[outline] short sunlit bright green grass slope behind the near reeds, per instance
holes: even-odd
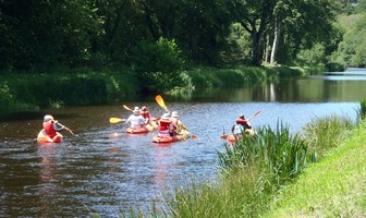
[[[276,195],[266,217],[365,217],[366,123]]]

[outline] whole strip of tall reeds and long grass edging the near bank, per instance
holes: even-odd
[[[325,154],[339,146],[353,128],[350,120],[340,117],[312,121],[295,135],[291,135],[289,126],[282,123],[277,129],[259,128],[256,136],[243,136],[233,147],[218,152],[222,172],[218,180],[176,189],[173,197],[166,201],[168,210],[151,213],[151,216],[268,215],[281,190],[296,181],[314,161],[320,161]]]

